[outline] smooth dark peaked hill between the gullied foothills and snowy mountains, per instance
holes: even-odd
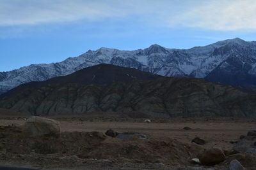
[[[44,85],[65,83],[79,83],[82,85],[97,83],[100,85],[106,85],[114,81],[128,81],[132,79],[154,80],[161,77],[162,76],[157,74],[140,71],[138,69],[120,67],[112,64],[99,64],[97,66],[86,67],[76,71],[75,73],[68,74],[67,76],[59,76],[46,81],[31,81],[29,83],[24,83],[12,90],[9,90],[8,92],[5,92],[4,94],[1,94],[0,98],[10,94],[15,94],[24,89],[42,87]]]

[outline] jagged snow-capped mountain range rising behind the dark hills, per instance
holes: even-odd
[[[0,73],[0,93],[29,81],[63,76],[97,64],[132,67],[162,76],[188,76],[256,87],[256,41],[227,39],[187,50],[151,45],[144,50],[89,50],[62,62],[32,64]]]

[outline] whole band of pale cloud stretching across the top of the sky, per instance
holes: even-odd
[[[0,26],[140,20],[157,27],[255,30],[255,0],[1,0]]]

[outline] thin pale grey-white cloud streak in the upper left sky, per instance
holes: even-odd
[[[0,2],[0,25],[35,25],[81,19],[96,20],[118,13],[118,9],[103,2],[81,0],[2,0]]]

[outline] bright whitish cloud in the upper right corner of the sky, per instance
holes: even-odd
[[[170,18],[171,27],[181,25],[217,31],[255,30],[256,1],[205,1],[188,11]]]

